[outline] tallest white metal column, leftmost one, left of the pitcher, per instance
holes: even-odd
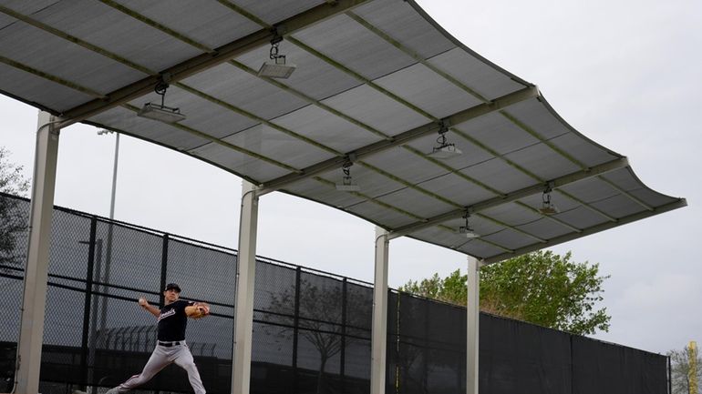
[[[29,213],[29,248],[22,300],[22,326],[17,344],[14,392],[19,394],[39,392],[51,214],[54,207],[58,156],[58,129],[53,127],[53,120],[53,116],[48,113],[39,112]]]

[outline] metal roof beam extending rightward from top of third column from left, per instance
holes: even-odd
[[[576,171],[563,177],[557,177],[555,179],[552,179],[550,182],[547,182],[547,184],[551,185],[551,187],[555,189],[557,187],[563,187],[570,183],[577,182],[579,180],[583,180],[589,177],[596,177],[600,174],[604,174],[617,168],[626,167],[628,166],[628,164],[629,163],[628,160],[626,160],[626,157],[617,158],[599,166],[590,167],[582,171]],[[480,212],[481,210],[485,210],[490,207],[497,207],[502,204],[507,204],[512,201],[516,201],[523,197],[529,197],[538,193],[542,193],[544,187],[546,187],[546,185],[543,184],[533,185],[531,187],[524,187],[520,190],[507,193],[503,196],[498,196],[485,201],[481,201],[480,203],[473,204],[470,207],[454,209],[449,212],[437,215],[435,217],[430,217],[424,221],[418,221],[416,223],[411,223],[406,226],[397,227],[392,232],[390,232],[390,237],[403,237],[422,228],[432,227],[441,222],[445,222],[447,220],[454,219],[457,217],[462,217],[463,215],[465,215],[466,210],[470,210],[471,213]]]

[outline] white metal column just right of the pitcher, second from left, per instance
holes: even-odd
[[[251,384],[253,338],[253,285],[256,278],[257,187],[243,181],[239,223],[239,255],[236,265],[232,394],[248,394]]]

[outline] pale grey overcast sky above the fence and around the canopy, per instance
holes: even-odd
[[[656,191],[688,207],[552,248],[600,263],[609,333],[595,338],[655,352],[702,340],[699,0],[422,0],[450,34],[540,87],[583,135],[629,158]],[[0,146],[33,167],[36,113],[0,96]],[[114,135],[62,131],[55,202],[108,216]],[[241,179],[122,136],[115,217],[236,248]],[[373,280],[374,226],[330,207],[262,197],[258,254]],[[390,243],[389,284],[445,276],[466,259],[407,238]]]

